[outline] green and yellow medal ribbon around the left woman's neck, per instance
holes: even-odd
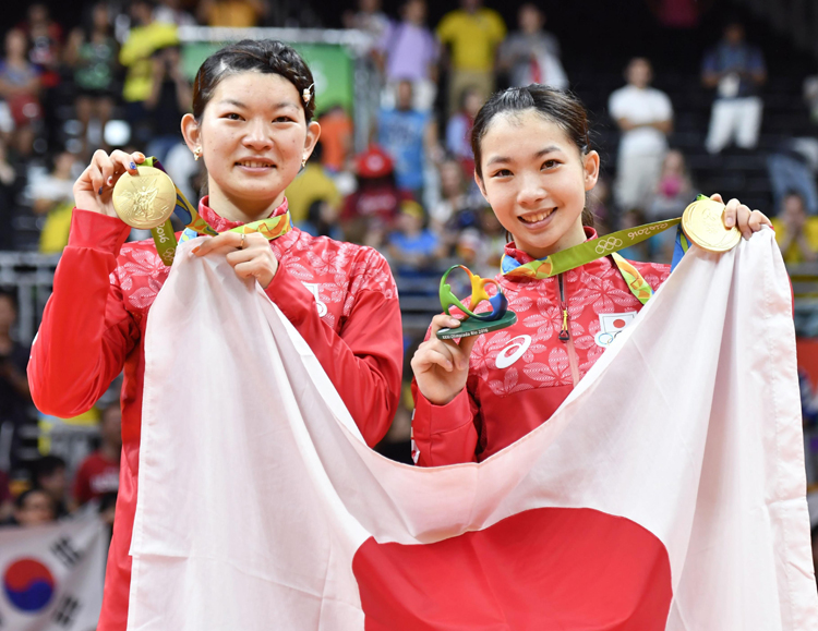
[[[145,161],[140,166],[155,167],[160,171],[165,171],[161,162],[159,162],[159,160],[154,157],[145,158]],[[194,206],[190,202],[188,202],[188,198],[184,196],[184,193],[179,190],[179,186],[176,186],[176,208],[173,208],[173,215],[176,215],[182,221],[182,223],[184,223],[184,231],[182,232],[180,238],[180,241],[182,243],[184,243],[185,241],[190,241],[191,239],[195,239],[196,236],[200,236],[202,234],[207,234],[210,236],[216,236],[218,234],[218,232],[214,230],[207,223],[207,221],[204,220],[196,208],[194,208]],[[285,213],[284,215],[279,215],[278,217],[268,217],[266,219],[253,221],[252,223],[237,226],[236,228],[227,230],[227,232],[238,232],[240,234],[251,234],[253,232],[258,232],[263,234],[268,241],[273,241],[274,239],[278,239],[279,236],[281,236],[282,234],[287,234],[287,232],[289,232],[290,230],[292,230],[292,222],[290,221],[290,211],[288,210],[287,213]],[[151,230],[151,234],[153,234],[154,236],[154,243],[156,244],[156,252],[158,252],[159,258],[161,258],[165,265],[172,265],[173,256],[176,255],[176,248],[178,247],[179,243],[177,242],[176,234],[173,233],[173,227],[170,223],[170,219],[168,219],[161,226],[153,228]]]

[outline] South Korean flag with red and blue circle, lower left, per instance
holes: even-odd
[[[95,629],[108,542],[92,506],[55,524],[0,527],[0,630]]]

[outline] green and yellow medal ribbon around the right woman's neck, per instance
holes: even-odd
[[[646,304],[653,295],[653,288],[642,278],[639,270],[636,269],[630,263],[628,263],[622,255],[617,254],[619,250],[629,247],[637,243],[641,243],[646,239],[650,239],[654,234],[664,232],[669,228],[679,226],[682,218],[667,219],[665,221],[654,221],[653,223],[646,223],[643,226],[637,226],[636,228],[628,228],[626,230],[619,230],[605,234],[598,239],[591,239],[574,247],[568,247],[561,252],[555,252],[544,258],[538,258],[529,263],[520,263],[513,256],[507,254],[503,255],[500,262],[500,268],[503,276],[516,277],[525,276],[528,278],[551,278],[565,271],[569,271],[582,265],[587,265],[592,260],[597,260],[603,256],[612,255],[616,267],[619,269],[623,278],[628,284],[630,292],[641,302]],[[676,267],[676,264],[682,259],[684,253],[687,252],[689,242],[682,232],[681,226],[676,231],[676,247],[673,253],[673,265],[672,268]]]

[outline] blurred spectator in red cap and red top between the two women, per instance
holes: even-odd
[[[395,183],[392,159],[377,146],[358,156],[356,174],[358,190],[344,202],[341,228],[346,241],[377,244],[392,229],[400,203],[412,195]]]

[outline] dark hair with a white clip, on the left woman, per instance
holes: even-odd
[[[293,48],[274,39],[242,39],[205,59],[193,82],[193,116],[202,120],[216,86],[226,76],[240,72],[278,74],[296,86],[299,102],[309,123],[315,113],[315,85],[312,72]],[[304,90],[310,97],[304,102]]]

